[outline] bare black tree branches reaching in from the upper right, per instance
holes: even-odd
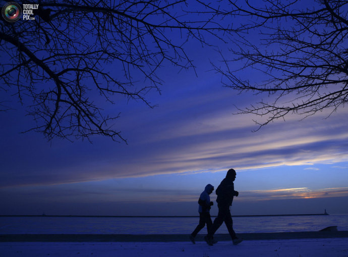
[[[214,68],[226,87],[271,99],[240,109],[265,117],[256,121],[260,127],[288,114],[332,113],[347,103],[348,1],[245,0],[230,2],[228,10],[208,8],[241,21],[233,58],[221,54],[224,65]],[[251,81],[253,70],[263,79]]]

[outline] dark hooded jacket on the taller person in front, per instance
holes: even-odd
[[[233,197],[238,195],[235,191],[235,185],[233,183],[233,178],[236,175],[235,170],[229,170],[226,177],[221,181],[220,185],[216,188],[216,202],[220,206],[230,206],[233,202]]]

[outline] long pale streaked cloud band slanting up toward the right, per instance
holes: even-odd
[[[31,163],[29,159],[25,164],[27,172],[20,172],[24,167],[15,162],[15,159],[11,166],[6,169],[3,167],[3,174],[17,175],[4,178],[1,186],[220,172],[229,167],[243,171],[284,165],[305,165],[308,166],[307,169],[315,169],[313,166],[317,164],[334,166],[335,163],[348,162],[348,145],[345,143],[348,141],[348,133],[344,115],[343,113],[333,118],[334,128],[327,128],[320,118],[314,118],[302,122],[271,124],[256,133],[250,132],[251,126],[235,129],[224,127],[217,132],[216,127],[220,124],[214,124],[216,127],[211,133],[206,131],[196,135],[177,135],[120,148],[119,145],[110,147],[108,143],[95,142],[93,146],[100,150],[93,155],[85,155],[89,146],[87,150],[81,150],[72,145],[69,151],[75,151],[77,157],[70,158],[69,151],[66,155],[60,153],[59,158],[65,160],[64,162],[52,159],[54,155],[45,158],[47,153],[42,151],[40,154],[43,161]],[[230,119],[239,123],[235,117],[240,116]],[[229,119],[228,115],[225,119]],[[197,130],[192,127],[192,131]],[[170,134],[166,130],[161,133]],[[155,135],[150,134],[149,138],[151,137]]]

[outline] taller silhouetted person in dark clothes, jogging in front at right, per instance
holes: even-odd
[[[239,192],[235,191],[235,186],[233,183],[236,179],[236,176],[236,171],[234,169],[229,169],[227,171],[226,177],[216,188],[216,202],[219,211],[211,229],[208,230],[208,234],[204,237],[204,240],[209,245],[213,245],[213,235],[223,222],[225,222],[233,244],[236,245],[243,241],[242,239],[237,237],[235,231],[233,230],[233,220],[231,218],[231,213],[229,210],[229,207],[232,205],[233,197],[239,195]]]

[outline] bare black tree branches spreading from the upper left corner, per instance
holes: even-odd
[[[18,2],[17,2],[18,3]],[[18,3],[21,4],[21,3]],[[34,21],[1,20],[0,90],[31,102],[30,130],[54,137],[87,138],[100,134],[126,141],[102,110],[99,96],[113,104],[117,95],[140,100],[160,92],[163,64],[194,69],[184,44],[204,35],[228,32],[186,1],[40,1]],[[196,13],[202,13],[197,19]]]

